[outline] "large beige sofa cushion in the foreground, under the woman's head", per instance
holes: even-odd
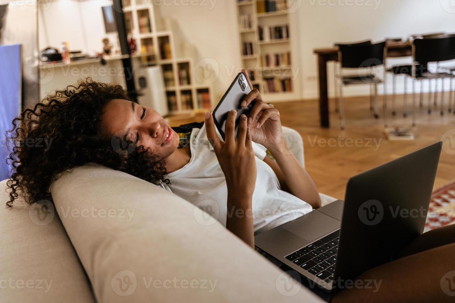
[[[187,201],[87,164],[51,185],[98,302],[319,299]]]

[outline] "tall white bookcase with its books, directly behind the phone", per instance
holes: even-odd
[[[234,0],[243,66],[270,102],[300,99],[297,17],[287,0]]]

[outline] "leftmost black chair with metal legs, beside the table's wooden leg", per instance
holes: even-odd
[[[344,104],[343,104],[343,87],[348,85],[369,84],[374,85],[374,112],[375,117],[378,118],[378,84],[383,83],[383,79],[372,73],[371,67],[382,66],[384,68],[384,55],[385,55],[385,42],[369,45],[339,45],[339,62],[340,73],[338,76],[338,83],[340,85],[340,102],[339,113],[341,129],[344,129]],[[368,69],[366,75],[343,75],[344,68],[356,68],[359,70]],[[385,71],[384,71],[385,73]],[[385,98],[385,95],[384,95]],[[384,99],[384,119],[387,124],[386,100]]]

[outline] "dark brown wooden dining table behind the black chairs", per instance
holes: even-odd
[[[412,42],[388,42],[386,43],[386,58],[406,57],[412,55]],[[321,127],[330,127],[329,122],[329,94],[327,84],[327,63],[338,61],[338,47],[317,48],[313,53],[318,58],[319,74],[319,122]]]

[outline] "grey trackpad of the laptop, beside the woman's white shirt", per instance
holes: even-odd
[[[325,236],[339,228],[341,222],[319,211],[313,211],[302,218],[283,225],[283,228],[309,242]]]

